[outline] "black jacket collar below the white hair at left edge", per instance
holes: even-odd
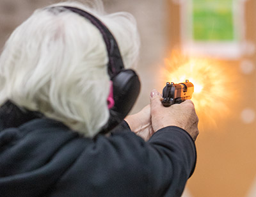
[[[8,100],[0,107],[0,131],[10,127],[19,127],[30,120],[42,117],[44,117],[42,113],[18,107]]]

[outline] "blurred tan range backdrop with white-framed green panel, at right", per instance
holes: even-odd
[[[209,91],[214,99],[211,106],[216,107],[200,109],[198,162],[183,196],[255,197],[256,1],[170,0],[167,3],[168,51],[178,48],[192,59],[195,56],[218,59],[211,60],[207,66],[209,73],[202,75],[207,84],[204,90]],[[200,67],[200,61],[194,67]],[[218,75],[211,77],[212,72]],[[220,79],[221,92],[211,92],[211,86]],[[196,102],[200,104],[200,97],[196,97]],[[222,107],[218,106],[220,102]],[[223,110],[223,107],[227,108]],[[214,123],[204,122],[209,119],[209,113],[217,114]]]

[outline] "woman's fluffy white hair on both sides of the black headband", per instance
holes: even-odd
[[[136,63],[140,40],[131,14],[107,15],[101,1],[53,4],[36,10],[6,42],[0,57],[0,105],[12,100],[93,137],[109,118],[106,45],[91,22],[53,6],[95,15],[115,36],[125,67]]]

